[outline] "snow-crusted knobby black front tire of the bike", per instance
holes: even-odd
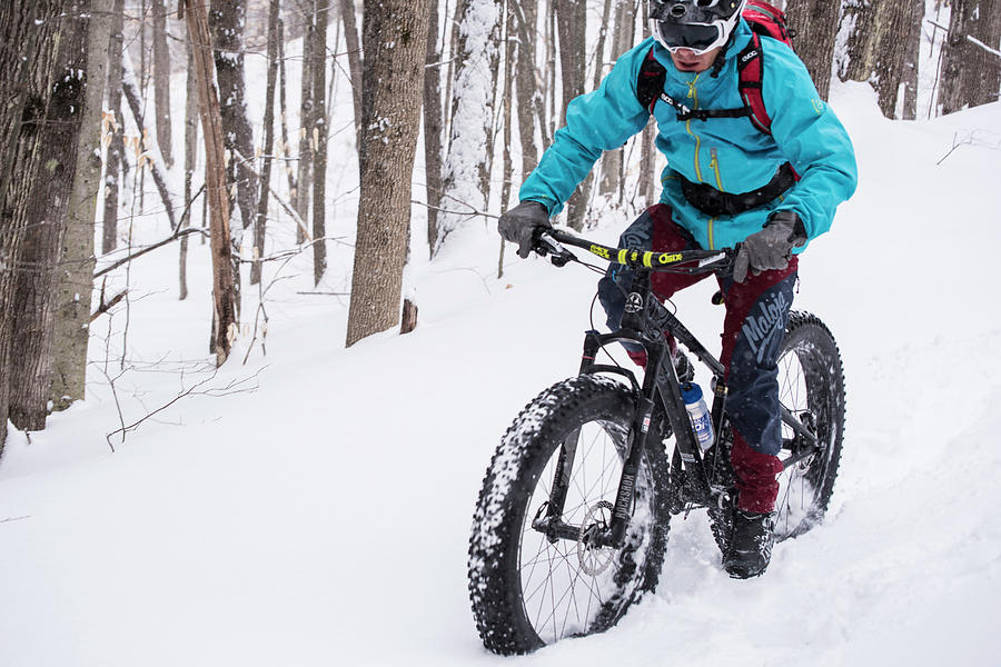
[[[618,434],[614,446],[620,448],[635,409],[636,394],[622,382],[582,375],[543,391],[508,428],[487,468],[469,539],[469,599],[487,649],[500,655],[525,654],[548,643],[529,620],[523,599],[522,539],[525,522],[533,518],[527,515],[536,511],[528,504],[536,486],[551,481],[541,479],[541,475],[569,434],[598,422],[605,432]],[[636,505],[643,502],[650,509],[644,515],[647,520],[641,526],[636,520],[631,524],[626,545],[614,555],[615,574],[603,580],[609,587],[607,599],[597,607],[594,621],[574,635],[608,629],[632,604],[656,587],[670,512],[667,461],[663,445],[655,449],[658,451],[644,450],[637,478],[645,481],[637,484]],[[606,499],[614,501],[615,486],[617,478],[612,497]],[[567,567],[573,565],[572,558],[565,560]]]

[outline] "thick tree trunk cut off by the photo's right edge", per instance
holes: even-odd
[[[952,0],[949,40],[942,61],[942,113],[998,101],[1001,57],[970,41],[998,50],[1001,0]]]

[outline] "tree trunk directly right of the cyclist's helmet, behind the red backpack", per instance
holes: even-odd
[[[789,0],[785,12],[789,24],[796,31],[793,44],[806,66],[822,99],[831,91],[831,69],[834,62],[834,38],[841,2]]]

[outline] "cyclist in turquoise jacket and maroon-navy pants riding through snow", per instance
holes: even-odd
[[[653,37],[624,53],[597,90],[567,106],[566,127],[523,183],[521,203],[498,223],[500,236],[518,243],[526,258],[535,230],[549,226],[602,151],[643,130],[651,113],[656,118],[656,146],[667,158],[661,200],[625,230],[620,246],[675,251],[741,245],[733,276],[721,279],[721,361],[739,491],[723,566],[736,578],[763,574],[771,559],[782,471],[776,358],[796,256],[831,227],[858,180],[844,127],[792,49],[752,33],[742,17],[745,2],[650,0]],[[752,108],[753,97],[742,97],[746,73],[742,79],[739,64],[754,57],[764,113]],[[641,96],[651,79],[656,90],[647,102]],[[668,299],[704,277],[658,272],[653,289]],[[612,265],[598,283],[613,329],[630,280],[630,271]],[[627,351],[645,365],[642,348]]]

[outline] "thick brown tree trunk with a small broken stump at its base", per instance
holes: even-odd
[[[347,345],[399,321],[427,54],[426,0],[366,0],[361,195]]]

